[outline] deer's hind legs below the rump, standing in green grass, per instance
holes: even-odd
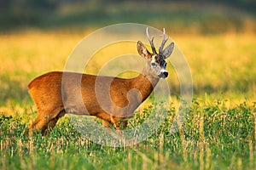
[[[43,135],[49,133],[49,131],[55,127],[59,118],[64,115],[65,110],[62,107],[45,111],[38,109],[38,116],[29,127],[30,134],[32,134],[32,131],[41,131]]]

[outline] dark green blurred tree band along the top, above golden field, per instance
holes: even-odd
[[[172,32],[255,31],[254,0],[0,0],[0,29],[84,30],[119,22]]]

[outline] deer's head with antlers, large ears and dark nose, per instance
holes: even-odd
[[[163,39],[162,43],[159,48],[159,53],[157,54],[155,47],[154,47],[154,37],[150,38],[148,34],[148,27],[146,30],[146,35],[148,37],[148,41],[150,43],[150,46],[152,48],[152,54],[148,51],[148,49],[144,46],[143,42],[138,41],[137,42],[137,51],[138,53],[144,58],[147,59],[147,66],[146,70],[149,71],[150,76],[152,77],[159,77],[159,78],[166,78],[168,77],[168,71],[166,71],[166,60],[173,51],[174,43],[171,42],[165,49],[164,46],[168,40],[168,37],[166,37],[166,30],[163,29]]]

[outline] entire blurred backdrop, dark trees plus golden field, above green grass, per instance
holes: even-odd
[[[0,0],[0,108],[32,105],[26,86],[34,77],[63,71],[82,38],[125,22],[166,27],[188,59],[195,97],[256,99],[255,8],[254,0]],[[121,47],[114,53],[127,45]],[[106,50],[105,59],[113,54]],[[168,69],[178,96],[179,81]]]

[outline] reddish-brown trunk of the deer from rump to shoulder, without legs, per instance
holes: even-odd
[[[131,81],[54,71],[32,80],[28,89],[38,109],[65,105],[65,110],[76,114],[96,115],[112,111],[113,105],[120,108],[128,105],[127,93],[131,89]]]

